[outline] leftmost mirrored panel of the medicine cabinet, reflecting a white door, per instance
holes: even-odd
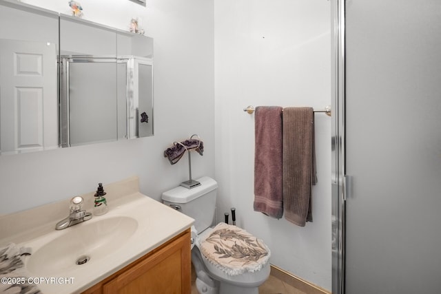
[[[0,152],[57,148],[58,14],[0,4]]]

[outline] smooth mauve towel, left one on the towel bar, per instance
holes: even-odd
[[[282,218],[282,107],[258,106],[254,114],[254,211]]]

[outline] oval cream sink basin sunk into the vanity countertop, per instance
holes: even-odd
[[[27,268],[34,275],[55,275],[102,258],[112,258],[138,227],[134,218],[114,216],[88,220],[63,231],[63,235],[41,246],[30,255]],[[77,264],[77,260],[84,262]]]

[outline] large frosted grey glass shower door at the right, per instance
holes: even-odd
[[[347,294],[441,291],[441,2],[423,2],[346,7]]]

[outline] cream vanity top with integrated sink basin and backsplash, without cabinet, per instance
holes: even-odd
[[[68,283],[40,282],[41,293],[83,293],[194,222],[189,216],[139,192],[136,177],[107,185],[106,191],[110,196],[107,198],[110,209],[105,215],[63,230],[56,230],[55,224],[65,216],[59,209],[69,207],[70,199],[4,218],[0,216],[1,224],[8,224],[0,225],[0,244],[14,243],[18,248],[32,249],[31,255],[23,256],[25,269],[19,269],[20,275],[23,271],[25,277],[72,278]],[[92,200],[93,195],[94,192],[82,197]],[[92,210],[92,204],[93,201],[85,204],[86,211]],[[88,255],[90,260],[76,264],[83,255]]]

